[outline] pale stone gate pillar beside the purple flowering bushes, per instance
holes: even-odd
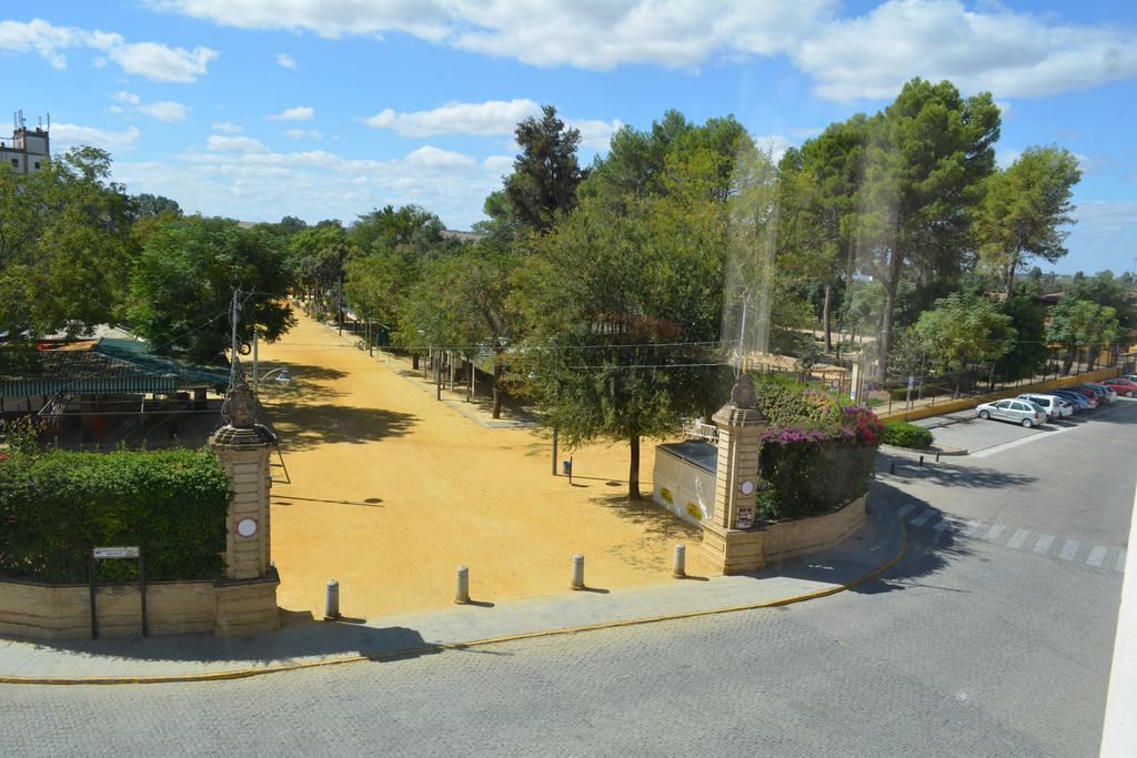
[[[754,380],[741,374],[731,399],[712,419],[719,427],[714,515],[703,522],[703,558],[716,573],[763,567],[761,531],[753,531],[758,489],[758,456],[766,417],[754,395]]]

